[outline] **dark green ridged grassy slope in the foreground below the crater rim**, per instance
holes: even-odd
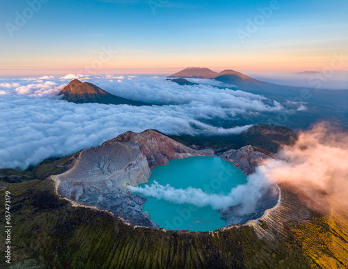
[[[285,236],[259,239],[253,227],[216,234],[123,224],[109,213],[59,199],[52,181],[11,184],[17,268],[345,268],[347,215],[285,222]],[[5,190],[0,190],[3,202]],[[3,211],[1,211],[3,219]],[[269,229],[264,223],[262,229]],[[3,249],[4,234],[0,234]],[[4,254],[1,252],[1,261]]]

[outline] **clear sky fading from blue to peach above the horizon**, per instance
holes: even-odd
[[[348,54],[347,0],[278,1],[243,40],[247,19],[272,1],[161,2],[48,0],[11,37],[8,25],[30,5],[1,0],[0,74],[79,70],[110,46],[117,53],[102,70],[320,70],[334,53]],[[155,14],[150,3],[161,5]]]

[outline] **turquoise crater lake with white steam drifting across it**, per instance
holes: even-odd
[[[138,186],[148,191],[137,189],[148,199],[143,212],[148,212],[159,227],[213,231],[226,226],[226,222],[212,204],[197,204],[204,204],[207,195],[214,204],[216,196],[226,196],[232,188],[246,182],[246,175],[228,161],[218,157],[191,157],[158,166],[152,170],[149,182]],[[161,193],[162,190],[166,195]]]

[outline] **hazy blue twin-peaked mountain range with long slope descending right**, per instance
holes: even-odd
[[[234,70],[224,70],[217,73],[200,67],[189,67],[169,77],[214,79],[223,83],[218,88],[242,90],[255,95],[262,95],[267,97],[267,99],[280,102],[285,108],[290,110],[294,108],[296,102],[306,106],[303,111],[296,111],[291,117],[285,115],[285,120],[279,120],[280,117],[268,115],[260,116],[259,118],[255,116],[255,122],[275,121],[279,124],[283,121],[292,128],[307,128],[313,122],[328,121],[340,122],[342,127],[348,128],[348,90],[278,85],[253,79]],[[268,100],[264,101],[267,102]],[[273,103],[270,102],[269,104]],[[253,124],[255,122],[241,120],[239,124]],[[213,122],[210,123],[214,124]],[[228,128],[228,126],[224,127]]]

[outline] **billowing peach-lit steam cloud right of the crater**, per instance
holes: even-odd
[[[290,186],[316,211],[328,212],[333,203],[348,210],[347,156],[348,133],[324,122],[300,133],[295,145],[265,161],[255,176]]]

